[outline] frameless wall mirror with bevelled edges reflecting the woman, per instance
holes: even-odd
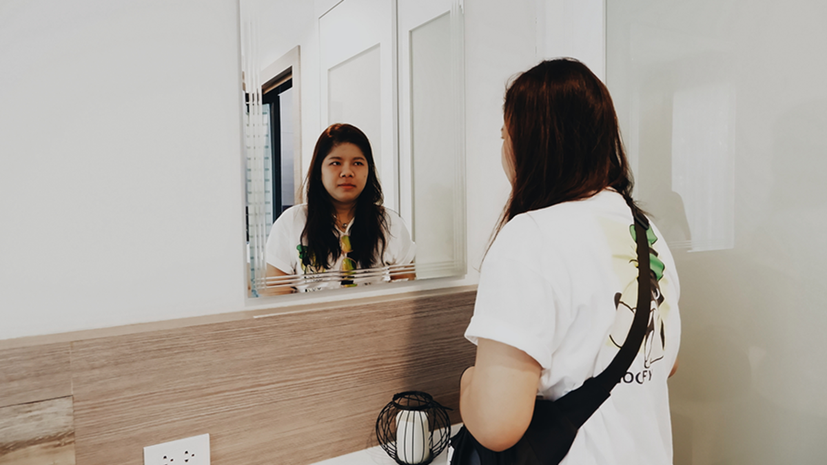
[[[464,275],[460,1],[241,0],[241,22],[249,295]],[[371,153],[334,137],[312,164],[334,123]]]

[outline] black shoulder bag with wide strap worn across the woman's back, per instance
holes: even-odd
[[[556,465],[566,457],[577,429],[609,398],[609,392],[632,366],[643,343],[651,311],[648,218],[632,208],[638,243],[638,307],[632,327],[609,367],[557,400],[538,399],[528,430],[513,447],[494,452],[483,447],[463,426],[451,439],[450,465]],[[641,311],[643,309],[643,311]]]

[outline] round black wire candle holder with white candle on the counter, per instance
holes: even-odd
[[[426,392],[395,394],[376,419],[376,439],[399,465],[428,465],[451,439],[448,410]]]

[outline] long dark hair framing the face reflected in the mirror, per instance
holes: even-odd
[[[376,164],[370,141],[364,132],[350,124],[333,124],[318,137],[313,149],[313,160],[304,184],[307,186],[308,220],[302,231],[302,242],[308,248],[302,256],[304,265],[328,269],[342,254],[336,233],[336,208],[322,184],[322,163],[334,147],[350,143],[365,156],[368,175],[365,189],[356,198],[356,212],[350,237],[353,252],[348,256],[359,268],[380,264],[385,254],[385,231],[388,228],[385,208],[382,206],[382,186],[376,176]]]

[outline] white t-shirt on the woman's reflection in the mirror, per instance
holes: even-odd
[[[336,276],[323,276],[319,275],[319,273],[341,271],[345,254],[340,254],[336,263],[327,269],[317,269],[313,266],[305,266],[302,263],[302,231],[304,231],[304,223],[307,223],[307,218],[307,204],[294,205],[284,210],[284,213],[281,213],[280,217],[273,223],[273,228],[270,229],[270,237],[267,237],[267,263],[285,273],[304,276],[295,286],[299,290],[311,291],[339,287],[342,285],[341,277],[336,279]],[[385,219],[388,224],[388,231],[385,232],[385,241],[387,243],[380,267],[407,265],[413,262],[416,246],[411,240],[410,233],[403,219],[390,209],[385,209]],[[350,233],[351,226],[355,221],[358,221],[358,218],[353,218],[351,222],[347,224],[347,229],[344,232],[337,229],[340,237],[342,234]],[[390,274],[385,270],[385,272],[375,273],[370,277],[358,277],[352,281],[353,284],[361,285],[389,279]]]

